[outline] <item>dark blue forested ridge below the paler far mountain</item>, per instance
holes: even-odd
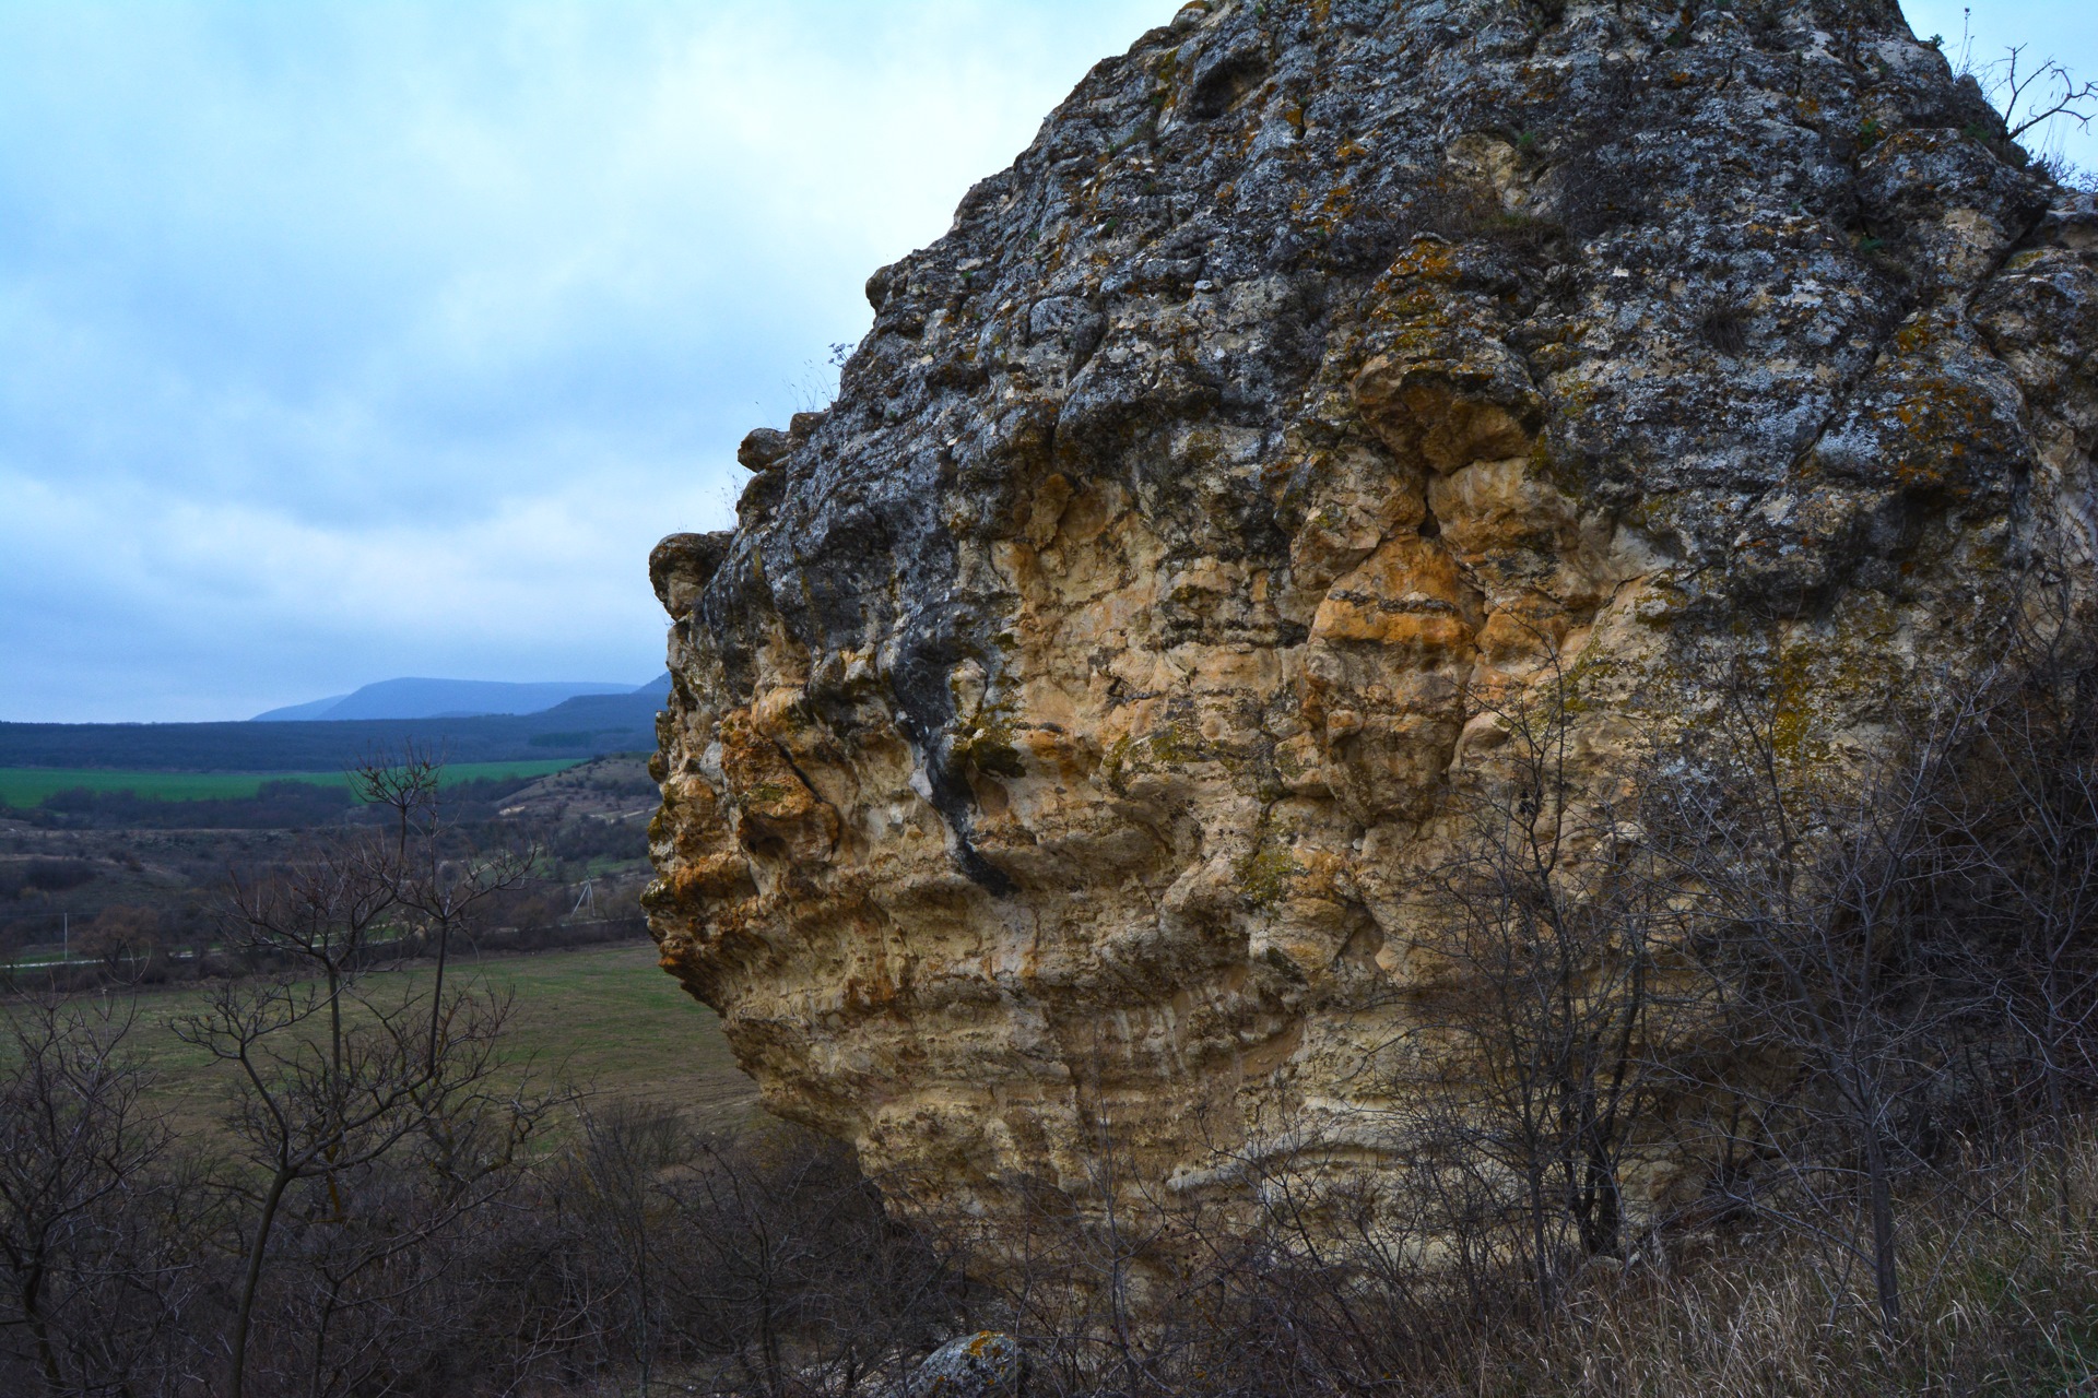
[[[124,771],[329,771],[418,742],[453,763],[514,763],[655,748],[669,675],[529,715],[273,719],[269,723],[0,723],[0,767]]]

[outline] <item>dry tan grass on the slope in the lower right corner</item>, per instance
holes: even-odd
[[[1448,1394],[1850,1398],[2098,1394],[2098,1140],[1962,1172],[1911,1205],[1909,1325],[1804,1239],[1737,1239],[1676,1268],[1594,1276],[1542,1329],[1483,1337]]]

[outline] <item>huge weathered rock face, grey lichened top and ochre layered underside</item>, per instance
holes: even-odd
[[[1725,641],[1840,742],[2090,572],[2098,214],[2001,132],[1882,0],[1187,6],[657,551],[665,966],[959,1207],[1374,1105],[1496,704],[1607,782]]]

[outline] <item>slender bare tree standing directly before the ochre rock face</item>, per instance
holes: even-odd
[[[1557,660],[1460,796],[1452,853],[1414,880],[1422,983],[1380,1052],[1399,1155],[1450,1205],[1458,1251],[1513,1260],[1540,1310],[1569,1268],[1618,1258],[1624,1174],[1672,1031],[1657,993],[1666,908],[1636,809],[1569,771]]]

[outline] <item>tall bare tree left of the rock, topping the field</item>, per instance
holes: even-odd
[[[269,975],[218,987],[201,1012],[174,1025],[185,1042],[237,1071],[231,1126],[254,1172],[235,1186],[248,1222],[227,1337],[231,1398],[245,1392],[281,1222],[325,1218],[342,1239],[355,1239],[321,1249],[317,1262],[323,1299],[304,1388],[336,1392],[355,1373],[355,1364],[327,1358],[331,1323],[350,1306],[352,1283],[485,1201],[485,1186],[504,1178],[545,1111],[541,1100],[491,1094],[508,1002],[443,983],[451,937],[493,891],[522,876],[529,855],[447,857],[457,843],[441,820],[441,773],[415,752],[399,767],[367,763],[352,780],[392,809],[392,828],[342,832],[271,878],[237,887],[233,939]],[[434,985],[369,979],[382,954],[430,943]],[[491,1126],[493,1107],[501,1111]],[[468,1165],[472,1149],[462,1153],[462,1132],[480,1149],[491,1130],[497,1149]],[[352,1228],[355,1184],[415,1146],[449,1180],[436,1203],[424,1199],[430,1207],[415,1222]]]

